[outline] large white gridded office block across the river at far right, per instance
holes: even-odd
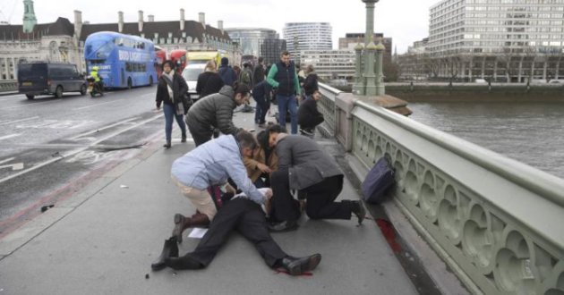
[[[430,9],[430,76],[564,77],[564,0],[443,0]]]

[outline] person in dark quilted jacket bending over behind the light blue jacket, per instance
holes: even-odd
[[[188,111],[186,123],[196,147],[211,139],[213,131],[236,134],[240,128],[233,124],[233,110],[249,102],[249,89],[244,85],[222,87],[218,93],[199,99]]]

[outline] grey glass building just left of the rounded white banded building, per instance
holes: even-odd
[[[229,28],[226,32],[239,44],[243,55],[262,56],[265,64],[278,62],[280,52],[286,50],[286,40],[280,39],[276,30]]]

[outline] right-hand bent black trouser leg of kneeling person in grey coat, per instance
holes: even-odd
[[[335,202],[341,190],[343,175],[327,177],[303,189],[307,196],[305,213],[312,219],[351,219],[353,203],[348,200]]]

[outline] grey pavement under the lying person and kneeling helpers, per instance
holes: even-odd
[[[256,128],[253,114],[235,125]],[[273,121],[273,118],[270,118]],[[194,147],[161,139],[57,202],[0,240],[0,295],[4,294],[417,294],[372,219],[315,221],[303,216],[295,232],[273,233],[286,253],[320,253],[312,275],[277,273],[252,244],[234,233],[206,269],[152,272],[173,215],[194,212],[170,179],[172,162]],[[335,153],[334,139],[319,139]],[[333,155],[339,156],[339,155]],[[342,155],[340,155],[342,158]],[[339,198],[358,199],[346,179]],[[184,237],[191,230],[184,232]],[[198,239],[184,238],[180,255]]]

